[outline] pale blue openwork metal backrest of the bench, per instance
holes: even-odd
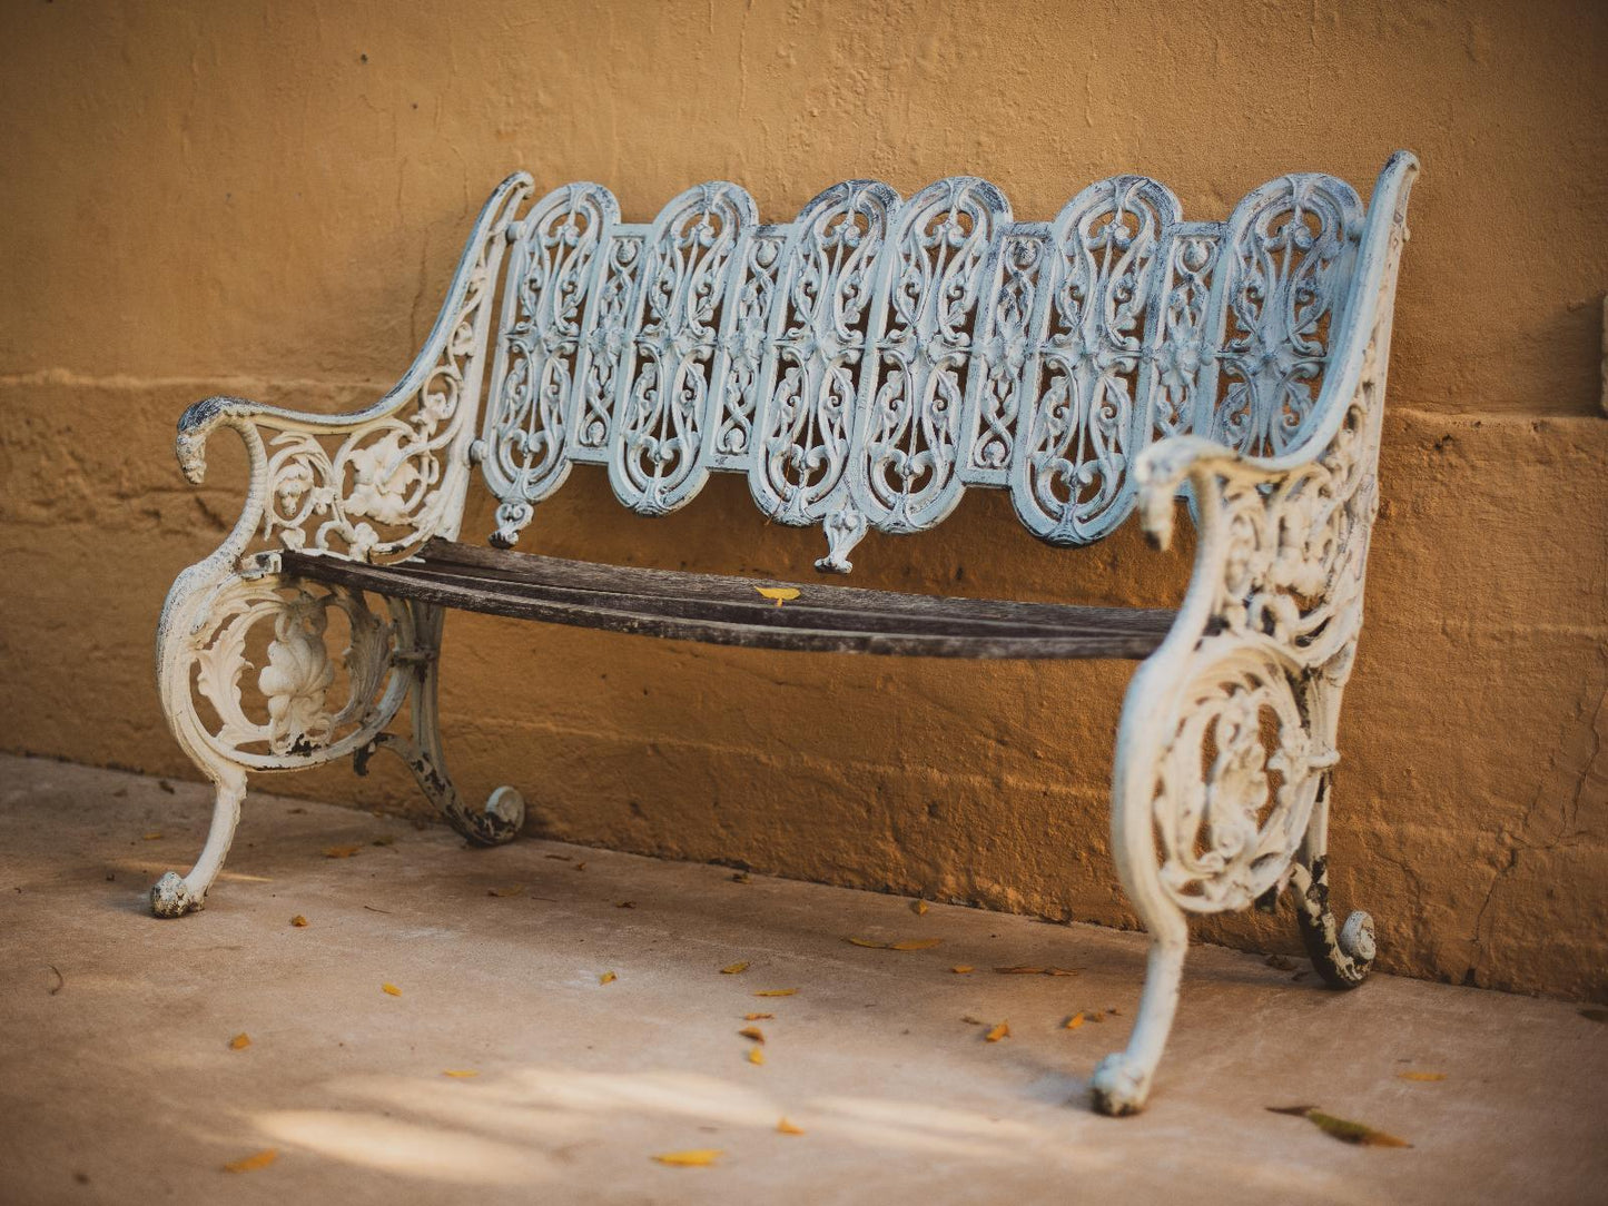
[[[1175,433],[1275,455],[1311,425],[1362,233],[1356,191],[1286,175],[1227,222],[1185,222],[1121,175],[1053,222],[984,180],[909,201],[851,180],[767,225],[730,183],[651,225],[576,183],[510,224],[473,453],[511,545],[577,461],[662,515],[712,471],[827,529],[913,532],[968,486],[1010,490],[1058,545],[1134,507],[1134,457]]]

